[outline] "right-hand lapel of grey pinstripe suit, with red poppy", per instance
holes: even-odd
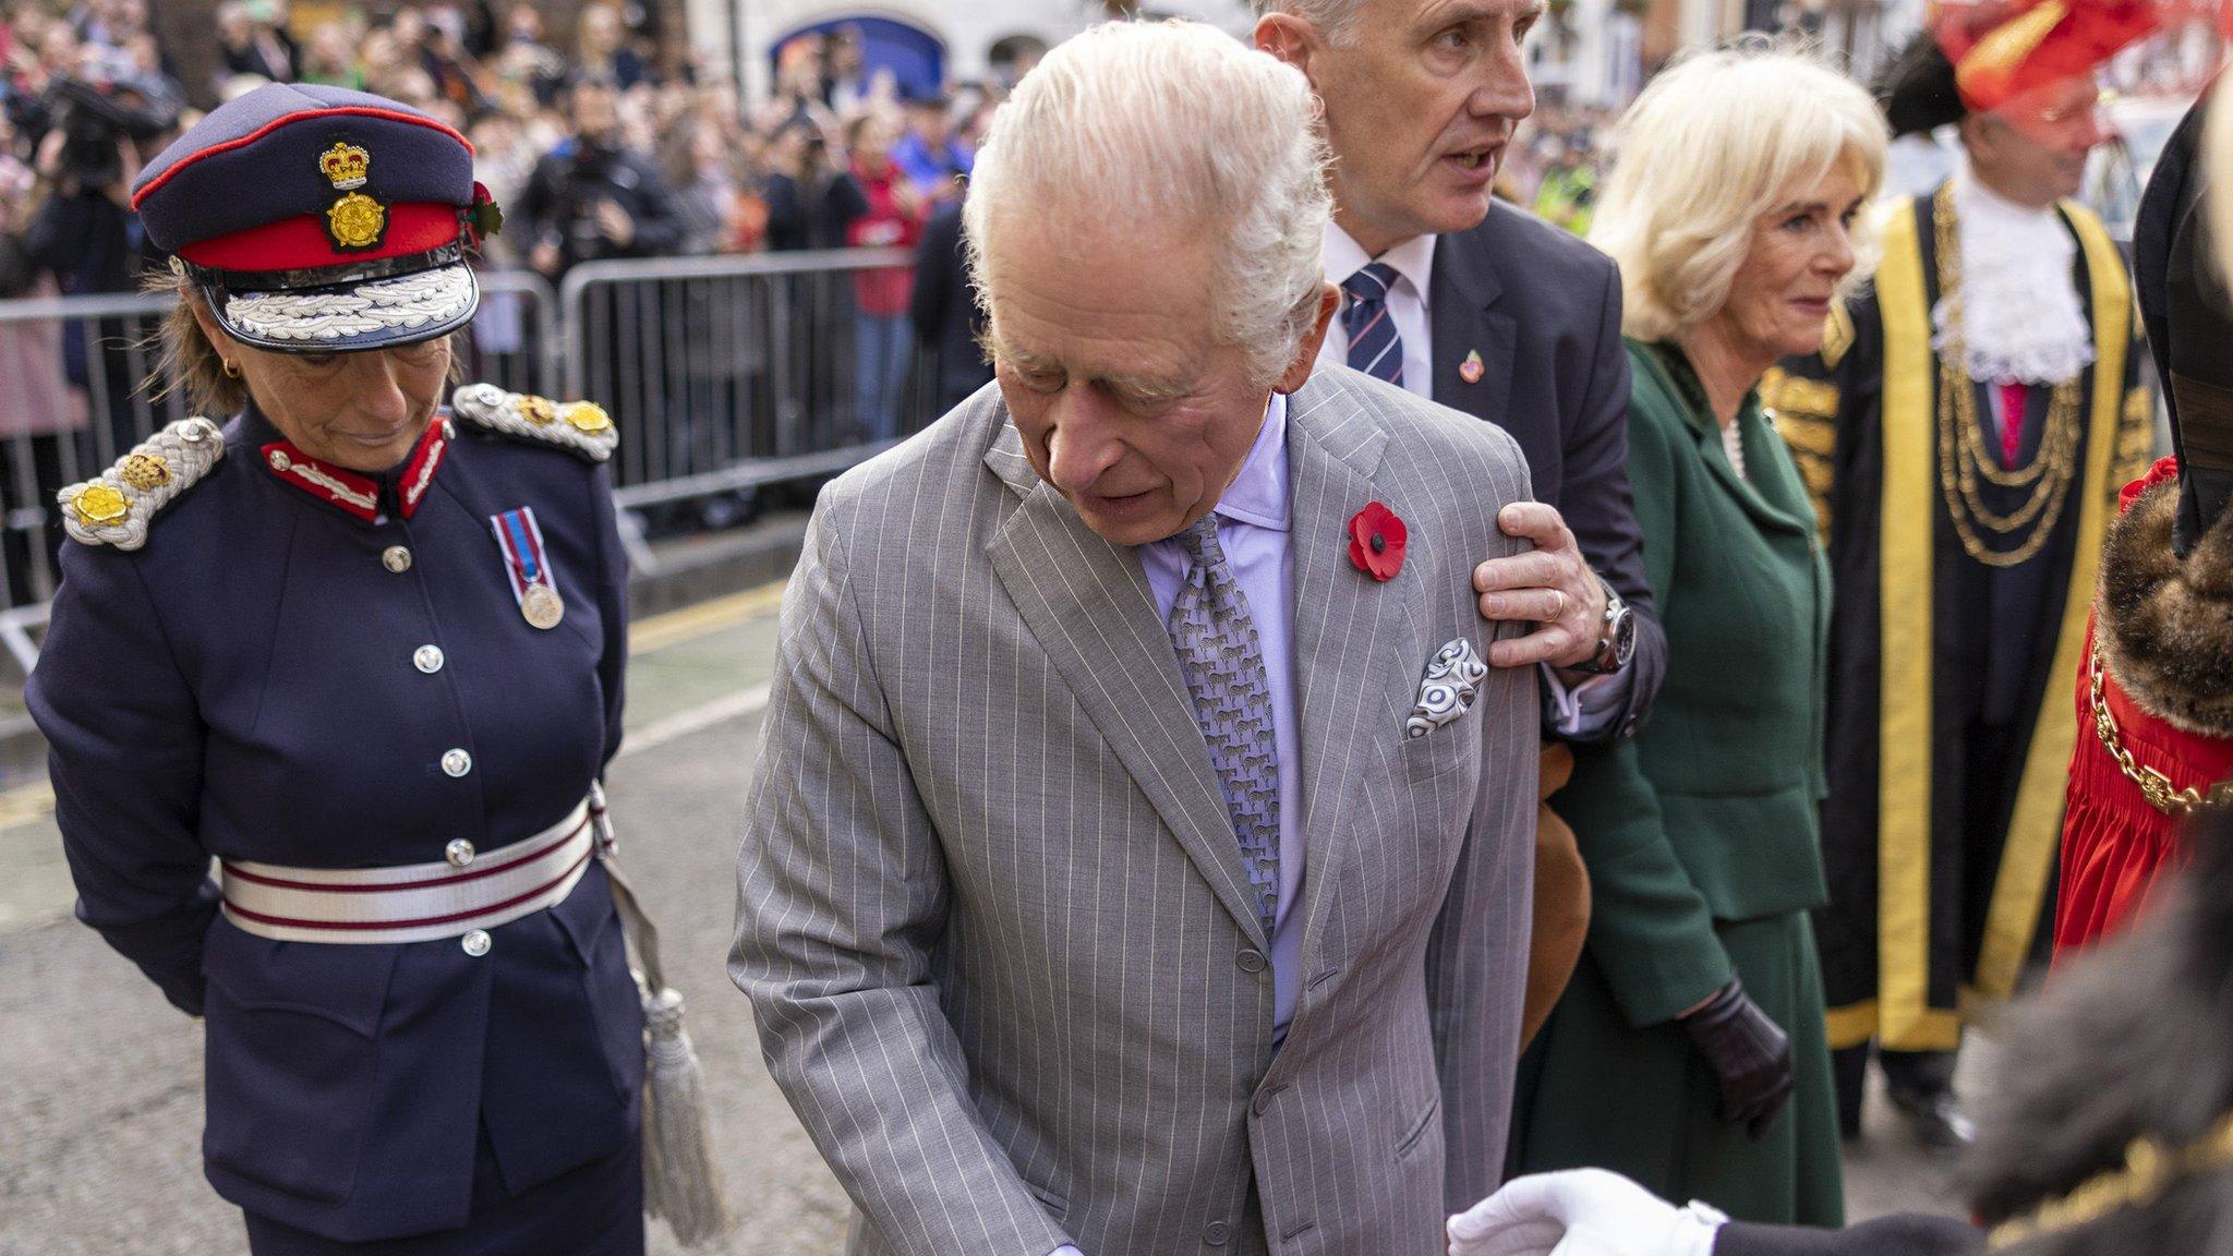
[[[1349,516],[1369,501],[1398,516],[1402,501],[1373,483],[1387,429],[1340,373],[1311,375],[1288,402],[1291,539],[1295,554],[1295,708],[1302,717],[1304,963],[1329,894],[1346,883],[1355,851],[1355,791],[1398,742],[1387,670],[1409,639],[1409,572],[1380,583],[1349,561]],[[1425,659],[1420,659],[1425,664]],[[1376,684],[1378,682],[1378,684]],[[1304,972],[1309,979],[1309,968]]]

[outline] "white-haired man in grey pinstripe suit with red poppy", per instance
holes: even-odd
[[[730,974],[857,1254],[1431,1256],[1496,1184],[1527,469],[1313,373],[1309,114],[1208,27],[1054,49],[969,197],[996,387],[815,507]]]

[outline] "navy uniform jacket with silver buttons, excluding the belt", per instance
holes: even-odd
[[[415,512],[386,487],[364,521],[272,474],[279,434],[234,418],[143,550],[65,548],[29,686],[78,919],[208,1019],[210,1182],[344,1240],[462,1225],[480,1131],[511,1191],[639,1138],[643,1019],[601,867],[478,959],[456,939],[268,941],[217,912],[210,856],[487,851],[558,822],[619,749],[627,568],[605,474],[451,422]],[[489,523],[516,507],[565,597],[552,630],[523,619]],[[440,668],[415,666],[422,646]]]

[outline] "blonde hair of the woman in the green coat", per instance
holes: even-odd
[[[1614,132],[1590,223],[1621,264],[1621,331],[1666,340],[1719,313],[1760,217],[1840,165],[1876,197],[1885,145],[1876,101],[1806,51],[1744,40],[1652,78]],[[1847,288],[1873,261],[1869,215],[1851,230]]]

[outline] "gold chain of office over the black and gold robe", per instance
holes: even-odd
[[[1963,367],[1961,237],[1954,230],[1952,183],[1938,190],[1932,219],[1938,244],[1938,299],[1952,302],[1954,311],[1954,317],[1947,320],[1947,342],[1938,351],[1938,489],[1954,518],[1954,534],[1961,539],[1963,552],[1987,568],[2014,568],[2039,554],[2041,545],[2054,536],[2063,507],[2070,505],[2070,485],[2077,480],[2079,467],[2079,436],[2083,434],[2079,416],[2083,373],[2054,384],[2045,431],[2039,436],[2032,460],[2021,467],[2003,467],[1999,456],[1985,447],[1985,429],[1976,413],[1976,387]],[[2014,422],[2023,422],[2023,416],[2014,416]],[[2016,510],[2001,514],[1985,505],[1978,478],[2030,492]],[[2025,536],[2014,550],[1994,550],[1978,534],[1981,527],[1999,536],[2016,532]]]

